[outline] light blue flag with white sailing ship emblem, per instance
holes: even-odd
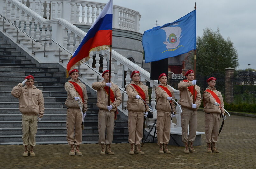
[[[196,49],[196,10],[172,23],[145,31],[142,45],[146,63]]]

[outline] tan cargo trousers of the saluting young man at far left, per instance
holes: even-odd
[[[22,140],[23,145],[36,145],[36,133],[37,133],[37,115],[24,115],[22,114]]]

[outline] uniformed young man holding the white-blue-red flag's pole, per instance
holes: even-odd
[[[113,141],[115,111],[122,102],[122,96],[119,87],[113,82],[109,83],[109,70],[102,73],[104,80],[102,82],[94,82],[92,88],[97,90],[97,106],[99,107],[98,115],[98,129],[99,129],[99,144],[101,145],[101,155],[115,154],[111,151],[111,143]],[[108,90],[109,87],[113,91],[110,91],[110,106],[108,106]],[[113,94],[113,96],[111,95]],[[111,96],[115,99],[111,101]],[[105,131],[107,129],[107,136],[105,137]],[[106,149],[105,149],[105,144]]]

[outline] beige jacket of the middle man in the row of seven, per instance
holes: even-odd
[[[149,103],[149,96],[148,96],[148,87],[144,85],[141,81],[139,83],[135,83],[133,80],[131,81],[131,84],[138,85],[142,90],[144,91],[146,95],[146,103]],[[147,112],[149,110],[149,106],[146,105],[141,99],[136,99],[136,95],[138,95],[137,91],[134,89],[132,85],[126,86],[126,92],[128,94],[128,101],[127,101],[127,110],[129,112]]]

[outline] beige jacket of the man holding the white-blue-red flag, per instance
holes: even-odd
[[[107,109],[108,93],[106,93],[106,91],[104,89],[104,87],[106,86],[106,83],[108,83],[108,81],[104,79],[102,82],[94,82],[92,84],[92,88],[94,90],[97,90],[97,106],[103,110],[108,110]],[[113,103],[111,103],[111,101],[110,101],[110,105],[112,105],[112,107],[113,107],[111,112],[115,112],[117,107],[122,102],[122,95],[121,95],[119,87],[116,84],[114,84],[113,82],[111,82],[111,84],[112,84],[111,89],[114,92],[116,100]]]

